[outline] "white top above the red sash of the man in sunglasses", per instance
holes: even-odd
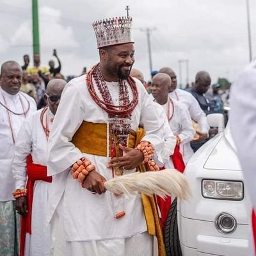
[[[47,138],[40,122],[40,115],[43,109],[33,113],[26,118],[20,127],[14,147],[14,159],[12,172],[15,179],[15,189],[22,189],[26,186],[27,170],[26,157],[31,154],[33,163],[46,166],[47,159]],[[51,129],[51,118],[54,116],[47,109],[48,126]],[[44,125],[46,118],[44,118]]]

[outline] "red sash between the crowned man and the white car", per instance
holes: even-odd
[[[177,169],[179,172],[183,173],[185,170],[185,164],[183,161],[182,154],[180,154],[180,146],[177,146],[177,145],[175,146],[174,152],[170,157],[172,157],[174,168]],[[165,222],[168,216],[168,212],[171,207],[171,202],[172,202],[172,198],[170,196],[168,196],[165,199],[162,199],[161,197],[157,196],[157,204],[161,211],[161,226],[163,230],[165,227]]]

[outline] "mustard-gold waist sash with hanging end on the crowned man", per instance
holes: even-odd
[[[136,147],[144,135],[145,131],[142,128],[137,131],[131,131],[129,134],[128,147]],[[107,125],[84,121],[76,131],[76,134],[74,134],[71,142],[83,153],[96,156],[107,156]],[[146,172],[147,166],[145,166],[145,164],[140,164],[137,169],[139,172]],[[158,255],[164,256],[165,248],[163,233],[157,212],[156,201],[154,196],[142,195],[141,198],[148,234],[157,237]]]

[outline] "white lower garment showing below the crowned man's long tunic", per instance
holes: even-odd
[[[147,232],[124,239],[67,242],[63,226],[63,219],[57,210],[51,221],[51,256],[153,255],[153,237]]]

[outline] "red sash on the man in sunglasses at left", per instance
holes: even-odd
[[[22,216],[20,220],[20,256],[24,256],[25,238],[26,233],[31,234],[31,216],[32,216],[32,202],[33,202],[33,190],[36,180],[44,180],[46,182],[52,182],[52,177],[47,177],[46,166],[40,164],[33,164],[32,156],[27,157],[27,175],[28,181],[26,188],[27,193],[27,206],[28,215]]]

